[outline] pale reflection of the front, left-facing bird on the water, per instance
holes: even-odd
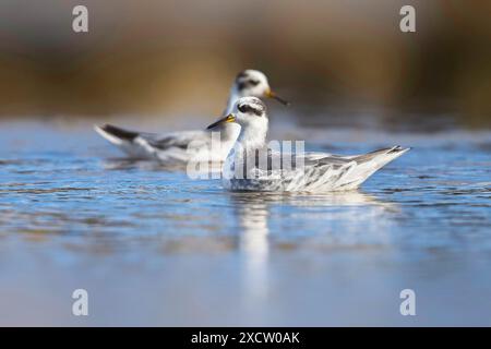
[[[242,255],[244,291],[247,300],[251,306],[256,308],[254,302],[267,296],[268,292],[268,260],[271,255],[270,218],[274,206],[292,207],[321,207],[321,206],[362,206],[374,207],[366,209],[366,216],[352,215],[351,210],[346,212],[347,216],[338,216],[342,221],[354,221],[360,219],[378,219],[376,216],[387,210],[396,210],[394,204],[382,202],[375,196],[361,193],[359,191],[328,193],[328,194],[300,194],[300,193],[229,193],[230,201],[235,207],[233,213],[237,225],[240,228],[238,234],[238,249]],[[363,209],[364,210],[364,209]],[[375,214],[374,214],[375,213]],[[306,213],[306,226],[309,225],[309,217],[319,213]],[[309,216],[311,215],[311,216]],[[325,216],[325,213],[321,213]],[[331,216],[333,217],[333,216]],[[325,217],[324,217],[325,219]],[[316,220],[316,219],[315,219]],[[359,230],[359,229],[357,229]],[[383,229],[382,229],[383,230]],[[346,234],[351,236],[352,231],[347,229]],[[357,234],[359,231],[357,231]],[[316,239],[318,237],[313,237]],[[355,237],[357,239],[357,237]],[[260,311],[260,309],[256,309]]]

